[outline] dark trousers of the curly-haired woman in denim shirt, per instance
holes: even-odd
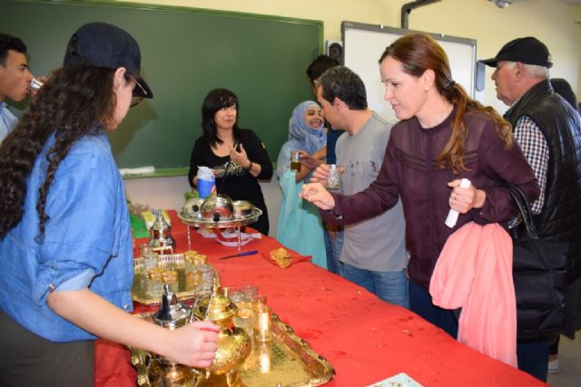
[[[93,386],[94,342],[54,343],[0,311],[0,386]]]

